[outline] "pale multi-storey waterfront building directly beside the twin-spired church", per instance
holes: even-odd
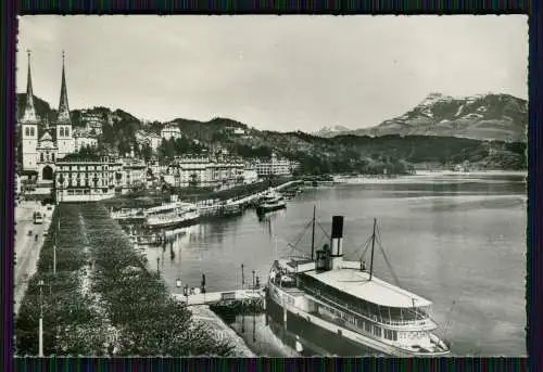
[[[56,162],[58,202],[94,202],[123,193],[123,164],[110,156],[68,154]]]

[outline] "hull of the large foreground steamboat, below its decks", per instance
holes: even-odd
[[[307,313],[292,306],[279,304],[277,298],[266,291],[266,313],[275,321],[283,324],[286,330],[299,335],[301,338],[319,343],[319,346],[331,355],[375,356],[384,355],[393,357],[440,357],[446,352],[413,352],[379,342],[375,338],[355,334],[352,330],[329,322],[313,313]]]

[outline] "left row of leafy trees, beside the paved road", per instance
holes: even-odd
[[[15,354],[38,355],[38,321],[43,313],[45,355],[103,356],[108,350],[108,324],[81,292],[80,271],[89,257],[78,223],[78,207],[59,205],[43,243],[37,272],[15,318]],[[60,230],[56,230],[60,220]],[[56,246],[56,272],[53,273],[53,246]],[[40,285],[40,282],[43,284]]]

